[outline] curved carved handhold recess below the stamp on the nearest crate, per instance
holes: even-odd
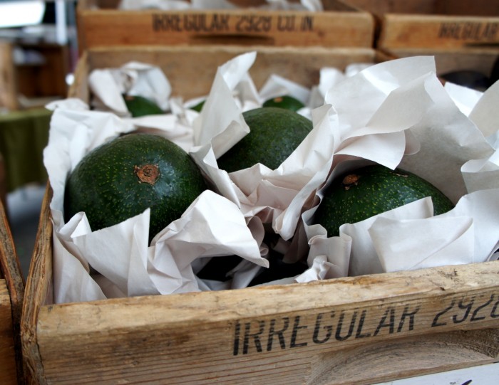
[[[499,329],[456,330],[403,337],[317,357],[314,385],[370,385],[425,374],[493,364],[499,359]],[[349,359],[341,359],[348,357]],[[351,359],[355,357],[355,359]],[[367,362],[359,374],[359,360]],[[386,365],[386,366],[385,366]],[[389,367],[389,370],[382,369]]]

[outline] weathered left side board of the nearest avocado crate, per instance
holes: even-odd
[[[24,290],[24,305],[21,317],[21,347],[26,383],[45,384],[43,364],[38,348],[36,328],[38,312],[45,303],[52,276],[52,221],[50,201],[52,190],[49,182],[41,206],[38,233],[29,266],[29,275]]]

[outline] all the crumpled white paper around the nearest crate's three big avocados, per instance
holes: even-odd
[[[245,53],[218,68],[200,114],[188,110],[188,102],[167,97],[173,112],[155,117],[160,127],[148,124],[149,117],[138,121],[89,111],[85,105],[55,110],[46,167],[54,189],[54,283],[61,289],[56,290],[56,302],[245,287],[268,265],[269,245],[263,242],[268,226],[281,236],[285,260],[307,258],[309,265],[305,273],[279,283],[493,258],[499,233],[499,140],[492,110],[497,85],[483,95],[455,85],[443,87],[433,58],[415,57],[358,65],[351,73],[324,69],[321,83],[312,90],[275,75],[258,92],[248,74],[256,55]],[[147,70],[141,63],[136,68]],[[140,75],[132,72],[125,78]],[[116,86],[118,92],[121,87]],[[308,100],[301,113],[312,119],[314,128],[302,144],[275,170],[263,164],[231,174],[218,169],[217,157],[249,132],[242,112],[284,90]],[[315,107],[321,97],[322,104]],[[113,109],[113,102],[106,107]],[[174,141],[179,139],[177,127],[184,127],[188,134],[181,137],[188,139],[183,148],[220,192],[202,194],[150,247],[143,241],[148,211],[116,229],[93,233],[83,213],[67,224],[61,213],[64,180],[78,159],[104,140],[137,127],[171,135]],[[431,199],[422,199],[361,223],[346,223],[339,237],[328,238],[322,226],[313,224],[324,184],[369,162],[423,176],[458,202],[456,209],[433,217]],[[198,222],[207,227],[199,228]],[[196,231],[190,232],[190,226]],[[209,239],[196,238],[197,232],[209,234]],[[127,241],[109,242],[114,236]],[[186,240],[189,247],[182,250]],[[425,248],[415,248],[422,243]],[[118,272],[99,261],[103,255],[111,258],[113,250],[119,250],[113,258],[122,259]],[[196,278],[207,260],[200,257],[232,254],[245,260],[232,272],[231,284]],[[91,275],[89,265],[101,274]]]

